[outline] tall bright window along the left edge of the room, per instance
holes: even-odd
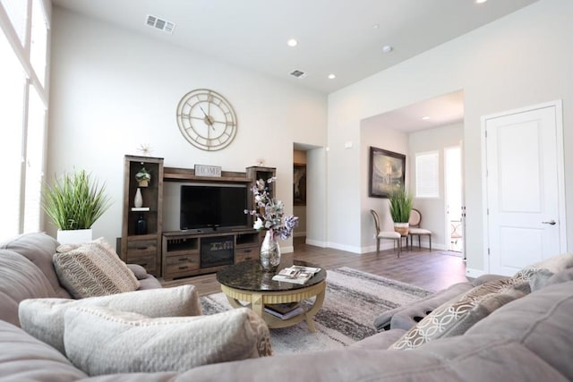
[[[0,0],[0,152],[4,180],[13,185],[4,187],[0,198],[0,239],[41,228],[48,50],[44,1]]]

